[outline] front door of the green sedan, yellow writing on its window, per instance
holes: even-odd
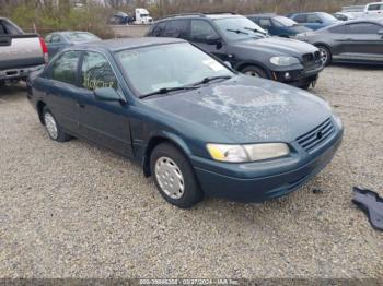
[[[132,155],[128,105],[102,102],[94,97],[100,87],[113,87],[123,95],[108,58],[97,51],[85,51],[80,70],[81,92],[78,118],[83,136],[126,156]]]

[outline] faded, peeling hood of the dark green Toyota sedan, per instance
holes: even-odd
[[[186,121],[201,140],[220,143],[292,142],[332,116],[328,104],[307,92],[245,75],[146,102]]]

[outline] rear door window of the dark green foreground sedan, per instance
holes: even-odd
[[[80,59],[80,51],[67,51],[58,58],[51,69],[51,79],[55,81],[77,84],[77,69]]]

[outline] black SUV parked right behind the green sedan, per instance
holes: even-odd
[[[163,19],[149,36],[187,39],[247,75],[309,88],[323,70],[320,51],[302,41],[270,37],[245,16],[181,14]]]

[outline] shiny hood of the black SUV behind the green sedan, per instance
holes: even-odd
[[[295,39],[268,37],[262,39],[247,39],[237,44],[242,48],[247,49],[264,49],[265,51],[278,53],[276,56],[295,56],[301,57],[304,53],[315,52],[317,49],[306,43]]]

